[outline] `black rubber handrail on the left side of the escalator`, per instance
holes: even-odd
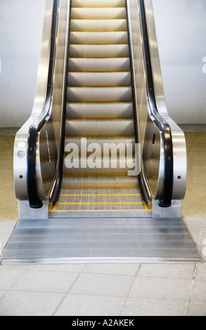
[[[44,127],[48,120],[48,116],[51,109],[51,99],[53,91],[53,70],[54,70],[54,55],[56,44],[56,33],[58,29],[58,3],[59,0],[53,1],[53,17],[51,25],[51,48],[50,48],[50,61],[49,61],[49,74],[46,87],[46,100],[44,105],[44,117],[34,121],[34,124],[30,126],[28,141],[27,141],[27,194],[30,203],[30,207],[33,209],[39,209],[43,206],[43,203],[39,200],[37,192],[37,177],[36,177],[36,152],[37,152],[37,136]]]

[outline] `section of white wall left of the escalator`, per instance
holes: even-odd
[[[41,50],[45,0],[0,0],[0,128],[30,117]]]

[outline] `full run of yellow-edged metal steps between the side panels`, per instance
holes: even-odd
[[[101,7],[109,2],[109,10]],[[136,136],[125,1],[72,1],[69,38],[63,180],[53,210],[148,209],[137,176],[127,176]],[[85,164],[68,169],[72,143],[84,152]]]

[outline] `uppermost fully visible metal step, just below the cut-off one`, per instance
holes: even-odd
[[[72,8],[72,20],[116,20],[126,18],[126,8]]]

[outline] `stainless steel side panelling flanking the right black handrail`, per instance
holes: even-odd
[[[152,0],[145,0],[146,22],[148,29],[148,42],[150,48],[150,60],[153,70],[153,83],[155,87],[155,100],[157,110],[169,124],[172,131],[173,155],[174,155],[174,186],[173,200],[184,199],[186,192],[186,140],[181,128],[169,117],[167,106],[165,104],[165,93],[162,83],[162,72],[160,67],[160,57],[157,46],[157,37],[155,32],[155,20],[153,14]],[[134,84],[136,92],[136,107],[139,124],[139,140],[141,143],[141,154],[143,166],[146,172],[146,180],[154,199],[160,199],[165,180],[165,155],[160,132],[153,124],[153,114],[150,110],[147,90],[146,63],[143,56],[143,40],[141,36],[141,24],[139,20],[139,1],[127,0],[129,14],[129,32],[131,42],[131,55],[134,66]],[[155,134],[160,140],[159,169],[156,169],[157,178],[150,178],[152,165],[152,138]],[[157,155],[156,155],[157,156]],[[155,166],[158,165],[158,159]],[[155,181],[155,183],[154,183]]]

